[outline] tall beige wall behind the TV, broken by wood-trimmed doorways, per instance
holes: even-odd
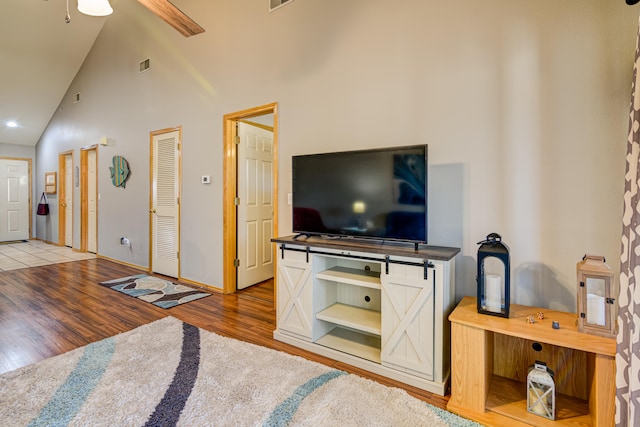
[[[291,230],[292,155],[427,143],[430,243],[462,248],[458,296],[475,294],[476,243],[490,232],[511,248],[513,302],[575,311],[585,253],[619,268],[638,7],[176,4],[206,32],[184,38],[137,2],[114,6],[38,144],[42,174],[58,152],[109,137],[99,149],[100,254],[148,264],[149,132],[183,125],[181,272],[222,287],[222,116],[278,102],[280,234]],[[139,74],[147,57],[151,70]],[[126,189],[109,180],[116,154],[130,163]],[[40,233],[57,241],[57,230]]]

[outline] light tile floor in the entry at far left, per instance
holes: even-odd
[[[0,243],[0,271],[80,261],[95,257],[95,254],[92,253],[77,252],[66,246],[56,246],[40,240]]]

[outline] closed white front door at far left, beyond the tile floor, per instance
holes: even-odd
[[[29,238],[29,162],[0,159],[0,241]]]

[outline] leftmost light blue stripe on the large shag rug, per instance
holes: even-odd
[[[115,341],[107,338],[85,347],[78,364],[30,423],[36,426],[66,426],[78,413],[104,375],[115,352]]]

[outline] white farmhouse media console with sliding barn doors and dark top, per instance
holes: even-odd
[[[458,248],[357,239],[278,244],[275,339],[444,395]]]

